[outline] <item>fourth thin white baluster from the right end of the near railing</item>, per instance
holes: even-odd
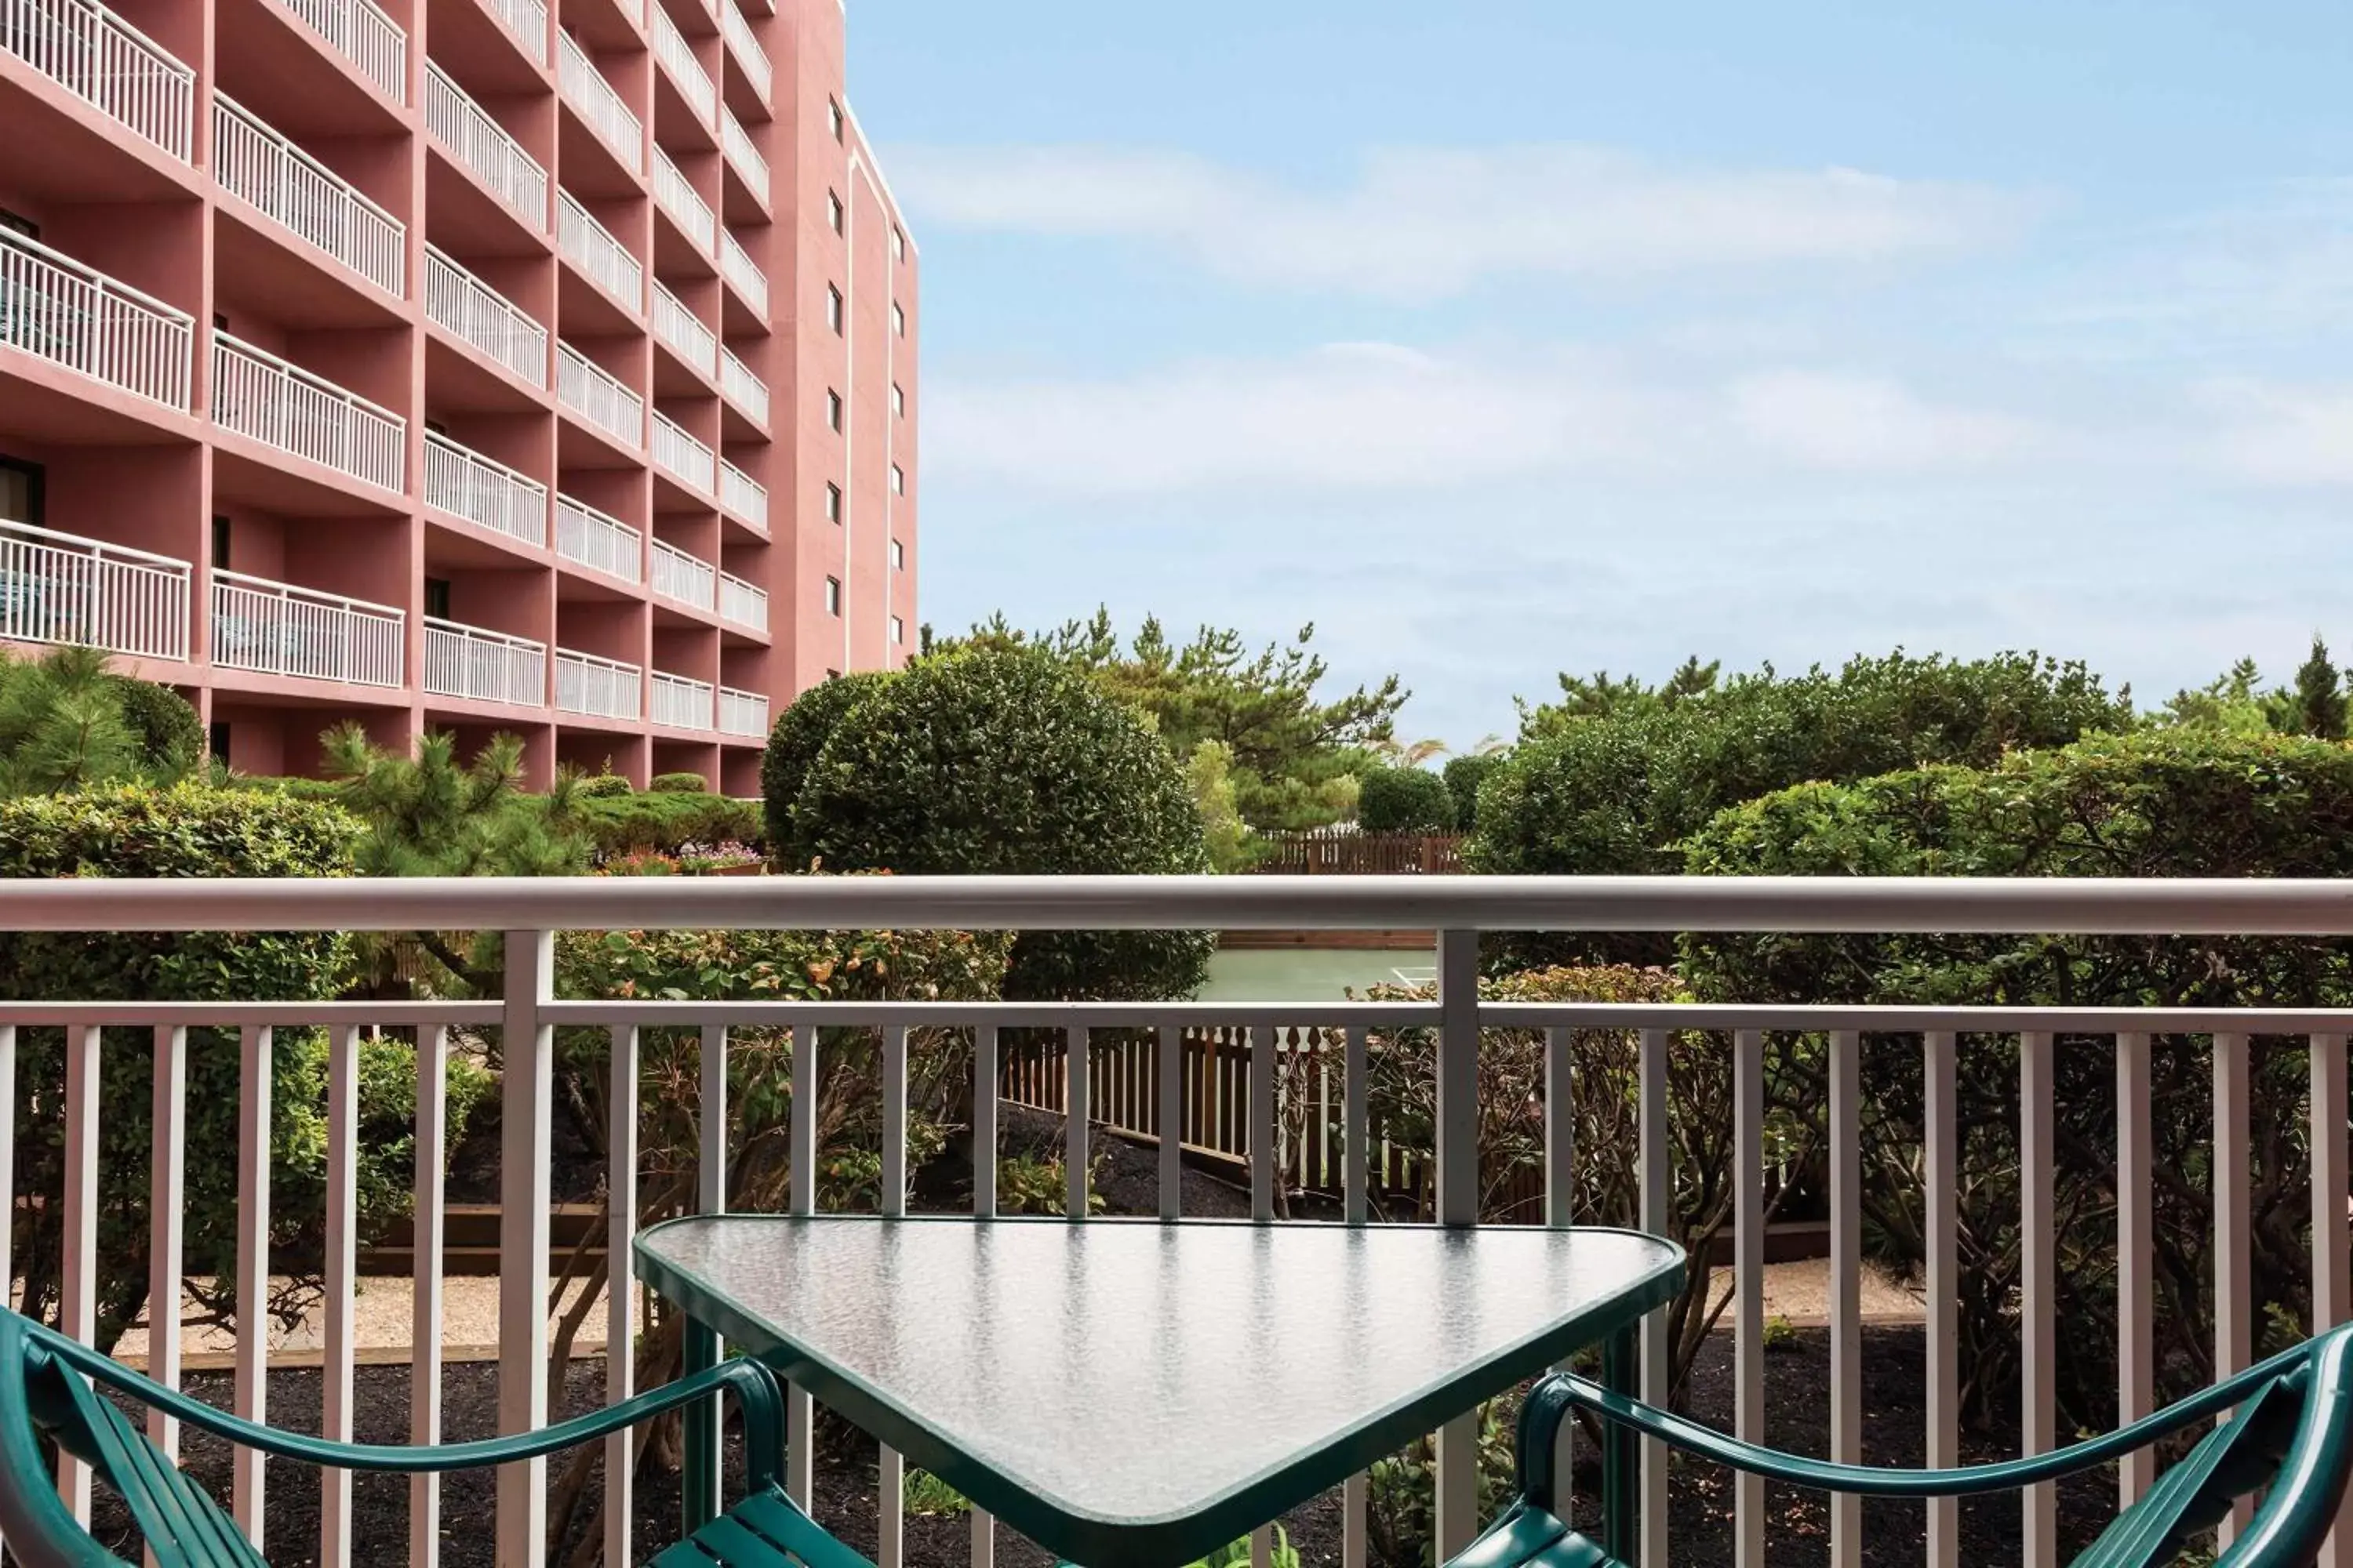
[[[2049,1034],[2019,1037],[2019,1253],[2021,1284],[2019,1389],[2026,1406],[2019,1453],[2049,1453],[2059,1441],[2059,1234],[2057,1234],[2057,1051]],[[2059,1488],[2028,1486],[2021,1500],[2021,1542],[2026,1568],[2059,1563]]]

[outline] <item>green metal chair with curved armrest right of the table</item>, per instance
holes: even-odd
[[[1591,1410],[1619,1443],[1654,1436],[1671,1448],[1767,1481],[1864,1497],[1967,1497],[2068,1476],[2146,1448],[2174,1432],[2231,1413],[2174,1462],[2148,1493],[2101,1530],[2073,1568],[2158,1568],[2184,1542],[2214,1528],[2231,1505],[2264,1490],[2254,1523],[2214,1568],[2301,1568],[2320,1552],[2353,1472],[2353,1326],[2334,1328],[2261,1366],[2129,1427],[2054,1453],[1965,1469],[1880,1469],[1774,1453],[1713,1427],[1657,1410],[1624,1394],[1555,1373],[1520,1410],[1520,1500],[1447,1568],[1624,1568],[1633,1542],[1609,1547],[1572,1530],[1553,1512],[1553,1443],[1562,1420]],[[1631,1481],[1631,1455],[1614,1472]],[[1621,1497],[1626,1486],[1619,1488]],[[1631,1535],[1631,1500],[1617,1514]]]

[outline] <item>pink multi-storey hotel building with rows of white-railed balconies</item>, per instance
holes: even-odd
[[[840,0],[0,0],[0,642],[758,792],[915,625]]]

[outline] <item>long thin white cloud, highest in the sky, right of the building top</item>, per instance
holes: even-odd
[[[1414,299],[1494,275],[1633,277],[1974,252],[2038,195],[1859,169],[1680,169],[1591,146],[1405,148],[1308,190],[1162,150],[899,148],[927,223],[1146,240],[1235,282]]]

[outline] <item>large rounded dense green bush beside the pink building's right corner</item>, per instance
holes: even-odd
[[[1184,771],[1136,717],[1035,649],[918,661],[856,703],[793,804],[835,870],[901,875],[1205,872]],[[1193,994],[1205,931],[1026,931],[1007,997]]]

